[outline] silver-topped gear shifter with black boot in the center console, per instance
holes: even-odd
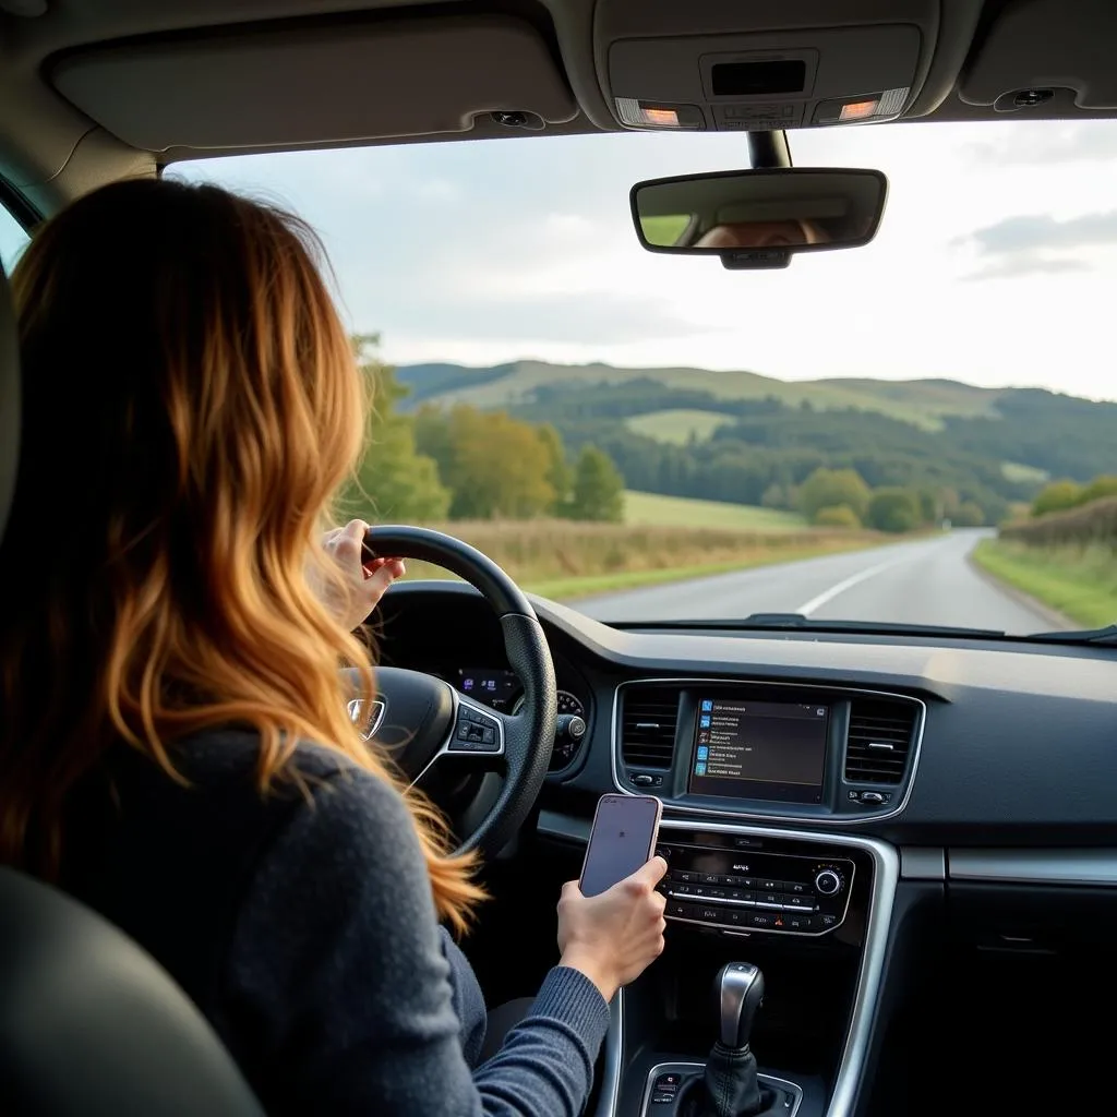
[[[748,962],[729,962],[714,983],[718,1039],[681,1110],[689,1117],[774,1117],[790,1111],[787,1095],[763,1085],[750,1047],[756,1012],[764,1000],[764,974]]]

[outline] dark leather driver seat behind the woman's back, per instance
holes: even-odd
[[[0,270],[0,540],[19,462],[19,350]],[[80,904],[0,868],[0,1109],[264,1117],[193,1002]]]

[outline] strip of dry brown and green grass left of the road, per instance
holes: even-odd
[[[456,521],[430,526],[483,551],[524,589],[562,601],[888,542],[873,532],[748,532],[548,519]],[[410,579],[452,576],[438,566],[408,563]]]

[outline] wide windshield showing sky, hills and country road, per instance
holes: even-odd
[[[1117,123],[789,139],[796,166],[885,172],[871,244],[775,271],[643,250],[631,185],[741,168],[737,135],[169,173],[319,231],[378,389],[365,518],[437,524],[610,621],[1117,619]]]

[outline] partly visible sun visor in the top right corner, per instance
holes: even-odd
[[[1079,108],[1117,108],[1114,42],[1113,0],[1016,0],[990,27],[958,96],[1011,113],[1070,89]]]

